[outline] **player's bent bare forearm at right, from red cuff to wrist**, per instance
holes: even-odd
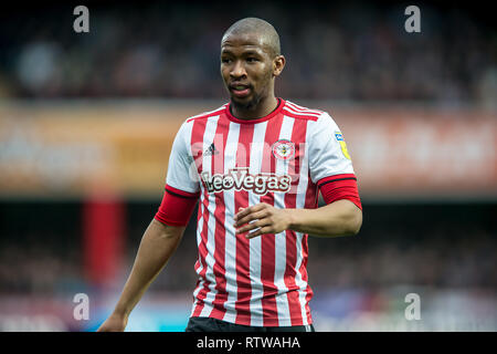
[[[337,200],[317,209],[287,209],[289,229],[320,237],[359,232],[362,211],[349,200]]]

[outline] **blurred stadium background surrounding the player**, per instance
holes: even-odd
[[[89,33],[73,31],[78,3],[3,9],[0,331],[93,331],[109,314],[177,128],[225,102],[220,39],[247,15],[282,37],[277,94],[330,112],[359,179],[360,235],[309,238],[317,331],[496,331],[495,23],[417,2],[410,34],[410,3],[382,3],[86,2]],[[128,331],[184,329],[195,252],[191,223]]]

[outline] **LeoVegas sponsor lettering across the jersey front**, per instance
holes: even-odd
[[[209,192],[234,188],[265,195],[268,191],[288,191],[292,184],[292,177],[288,175],[263,173],[252,175],[248,174],[248,167],[231,168],[226,175],[215,174],[212,177],[209,171],[203,171],[200,176]]]

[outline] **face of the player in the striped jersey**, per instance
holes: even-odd
[[[257,34],[228,34],[221,43],[221,75],[231,102],[254,108],[274,90],[274,58]]]

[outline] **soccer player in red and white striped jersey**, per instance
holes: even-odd
[[[186,331],[314,331],[308,235],[356,235],[362,207],[330,115],[275,96],[284,67],[278,34],[266,21],[246,18],[224,33],[221,75],[230,103],[180,127],[162,202],[99,331],[125,330],[197,201],[198,283]],[[319,191],[326,206],[318,208]]]

